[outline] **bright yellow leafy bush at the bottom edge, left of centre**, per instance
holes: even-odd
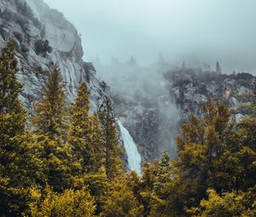
[[[29,211],[32,217],[92,217],[95,216],[95,200],[86,187],[75,191],[68,189],[55,193],[47,186],[44,191],[31,189],[32,202]]]

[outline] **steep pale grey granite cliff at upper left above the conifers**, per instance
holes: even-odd
[[[79,34],[63,14],[49,9],[42,0],[1,0],[0,12],[0,48],[10,38],[15,39],[19,79],[25,84],[22,101],[29,110],[55,63],[67,83],[69,102],[82,81],[90,87],[93,110],[97,111],[104,99],[110,99],[107,86],[95,77],[94,66],[82,60]]]

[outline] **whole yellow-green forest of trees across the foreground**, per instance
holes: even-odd
[[[20,101],[15,43],[0,55],[0,216],[256,216],[256,84],[239,123],[207,100],[143,173],[125,172],[111,103],[90,111],[81,83],[67,104],[57,64],[28,114]]]

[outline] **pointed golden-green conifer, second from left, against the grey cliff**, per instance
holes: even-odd
[[[33,125],[38,133],[58,138],[65,134],[67,118],[66,89],[57,65],[49,72],[44,83],[41,99],[34,105],[35,115],[32,117]]]

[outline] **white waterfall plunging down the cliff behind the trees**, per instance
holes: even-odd
[[[129,134],[128,130],[123,126],[122,123],[119,122],[119,128],[124,140],[125,145],[125,151],[128,156],[128,166],[131,170],[134,170],[137,172],[137,174],[142,174],[142,157],[140,156],[139,152],[137,151],[137,146],[134,142],[134,140],[131,137],[131,134]]]

